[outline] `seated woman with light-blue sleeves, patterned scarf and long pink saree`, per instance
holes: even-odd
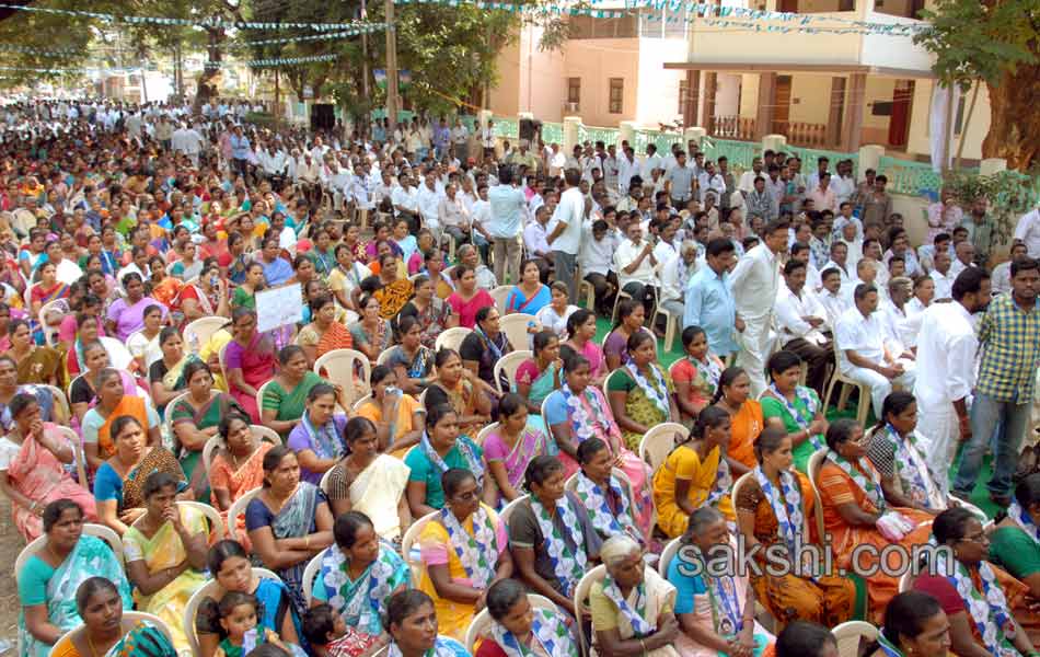
[[[654,529],[650,527],[654,516],[650,469],[625,445],[603,393],[591,384],[591,378],[585,356],[575,354],[568,357],[564,361],[563,387],[545,401],[545,423],[568,477],[578,471],[578,448],[582,442],[599,438],[606,443],[611,462],[632,482],[635,518],[643,535],[649,538]]]

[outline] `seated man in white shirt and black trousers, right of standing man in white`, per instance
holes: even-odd
[[[776,297],[776,328],[783,348],[798,354],[808,364],[806,382],[822,400],[827,366],[833,361],[828,330],[827,309],[806,289],[806,263],[789,260],[784,265],[784,281]]]

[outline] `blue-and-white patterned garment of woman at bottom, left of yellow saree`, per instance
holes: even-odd
[[[357,579],[350,579],[347,565],[339,548],[325,549],[314,579],[314,599],[328,602],[348,627],[378,636],[384,632],[386,601],[397,589],[407,588],[412,570],[385,543],[379,544],[379,555]]]

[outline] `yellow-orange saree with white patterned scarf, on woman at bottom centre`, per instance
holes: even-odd
[[[462,522],[446,507],[419,532],[424,566],[448,566],[452,583],[478,590],[487,590],[494,581],[498,558],[508,546],[506,523],[483,503]],[[434,600],[438,631],[463,641],[475,607],[440,597],[426,567],[418,588]]]

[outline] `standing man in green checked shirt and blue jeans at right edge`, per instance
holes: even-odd
[[[1028,257],[1013,262],[1012,293],[994,299],[979,321],[982,357],[971,404],[970,438],[954,482],[952,494],[958,497],[967,499],[971,495],[982,457],[992,443],[993,479],[986,484],[990,498],[1003,507],[1012,500],[1012,475],[1026,436],[1040,367],[1038,290],[1040,263]]]

